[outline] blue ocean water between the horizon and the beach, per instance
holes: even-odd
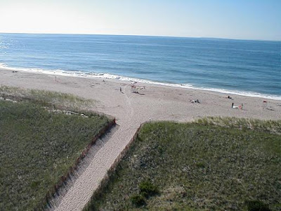
[[[0,34],[0,65],[281,99],[280,49],[281,41]]]

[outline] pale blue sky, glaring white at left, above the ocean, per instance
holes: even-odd
[[[0,32],[281,40],[281,0],[0,0]]]

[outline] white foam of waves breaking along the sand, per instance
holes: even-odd
[[[66,70],[42,70],[39,68],[11,68],[5,65],[4,63],[0,63],[0,68],[5,70],[18,70],[25,72],[40,72],[48,75],[61,75],[61,76],[72,76],[72,77],[94,77],[94,78],[103,78],[103,79],[116,79],[126,82],[140,82],[144,84],[155,84],[167,87],[180,87],[183,89],[198,89],[204,91],[216,91],[223,94],[237,94],[240,96],[250,96],[250,97],[259,97],[259,98],[268,98],[273,100],[281,101],[281,96],[270,95],[270,94],[260,94],[257,92],[251,91],[238,91],[238,90],[228,90],[228,89],[216,89],[216,88],[204,88],[204,87],[194,87],[192,84],[170,84],[164,82],[153,82],[147,79],[137,79],[133,77],[124,77],[120,75],[113,75],[110,73],[103,72],[81,72],[81,71],[66,71]]]

